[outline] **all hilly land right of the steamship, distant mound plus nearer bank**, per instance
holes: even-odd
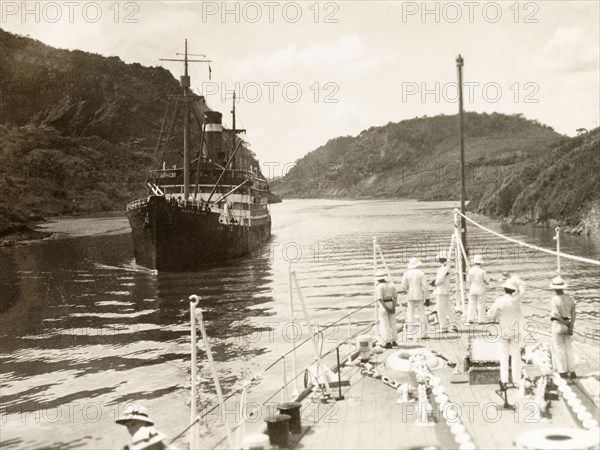
[[[521,115],[465,114],[469,208],[516,222],[598,228],[598,129],[567,138]],[[339,137],[274,184],[288,198],[460,196],[456,116],[421,117]]]

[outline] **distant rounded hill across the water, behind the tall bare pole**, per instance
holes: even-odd
[[[467,194],[545,154],[564,140],[520,115],[465,114]],[[285,197],[456,199],[460,152],[456,116],[422,117],[332,139],[297,161],[274,190]]]

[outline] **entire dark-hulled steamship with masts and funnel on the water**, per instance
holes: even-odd
[[[127,205],[137,264],[162,271],[224,264],[253,252],[271,235],[268,204],[279,201],[238,136],[244,130],[235,125],[235,93],[233,126],[226,130],[222,114],[190,89],[188,64],[210,61],[189,59],[187,41],[183,55],[167,60],[183,62],[185,71],[156,146],[160,168],[148,174],[148,195]],[[183,161],[178,165],[166,154],[179,123]]]

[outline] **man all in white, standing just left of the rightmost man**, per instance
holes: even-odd
[[[513,279],[504,282],[504,295],[498,297],[488,316],[498,321],[500,335],[500,381],[508,383],[508,357],[511,357],[513,383],[521,379],[521,339],[523,314],[518,295],[519,286]]]

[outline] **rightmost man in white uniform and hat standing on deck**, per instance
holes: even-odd
[[[575,302],[570,295],[564,293],[564,289],[569,285],[561,277],[553,278],[550,287],[555,292],[550,301],[552,365],[561,377],[577,378],[571,342],[575,324]]]

